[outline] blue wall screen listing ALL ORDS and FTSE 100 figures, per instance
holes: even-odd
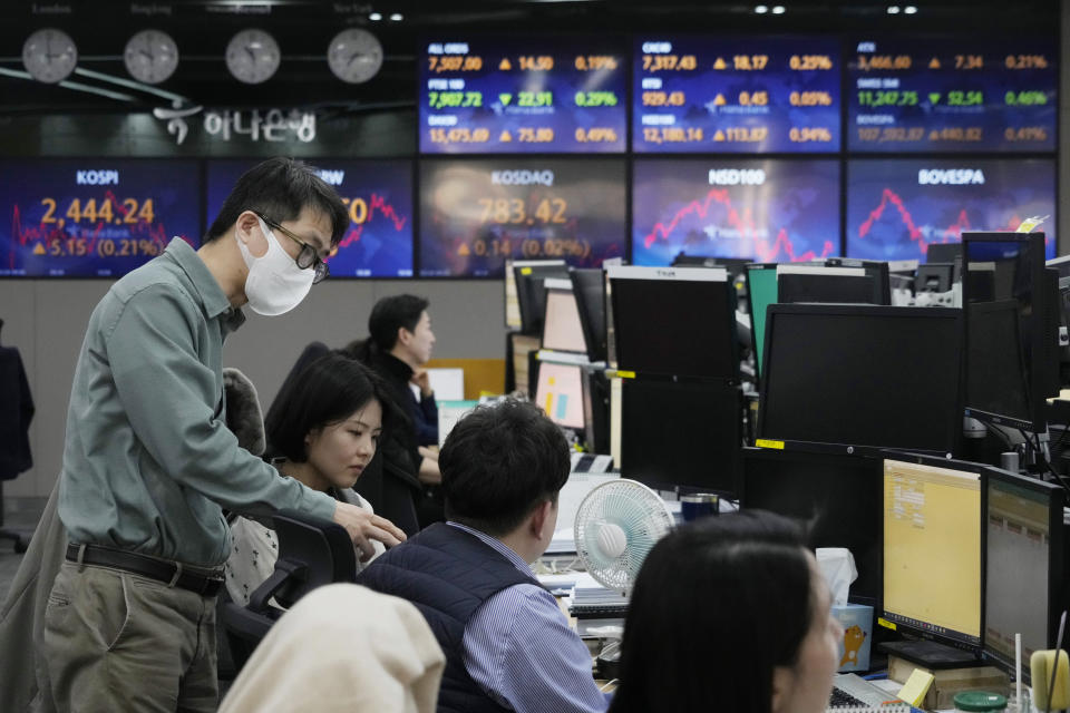
[[[612,39],[487,37],[424,50],[421,153],[624,150],[628,67]]]

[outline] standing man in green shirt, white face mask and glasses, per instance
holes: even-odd
[[[222,508],[293,508],[369,540],[389,520],[281,477],[225,424],[222,348],[244,316],[282,314],[328,274],[349,224],[338,194],[284,158],[244,174],[203,246],[179,238],[116,282],[75,370],[58,509],[70,545],[45,615],[59,711],[214,711]]]

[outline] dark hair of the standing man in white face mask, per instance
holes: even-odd
[[[349,227],[349,212],[338,192],[303,162],[283,156],[269,158],[237,179],[204,242],[211,243],[225,234],[245,211],[273,223],[285,223],[296,221],[304,207],[331,219],[331,247],[337,246]]]

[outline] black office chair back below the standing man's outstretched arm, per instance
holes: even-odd
[[[274,573],[256,587],[249,606],[224,602],[220,607],[235,675],[268,635],[268,629],[284,614],[270,604],[272,598],[290,608],[319,586],[353,582],[357,577],[353,541],[341,525],[295,510],[280,510],[272,520],[279,537]]]

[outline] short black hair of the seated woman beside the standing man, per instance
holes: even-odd
[[[329,352],[288,378],[264,418],[268,456],[293,462],[308,459],[304,437],[338,423],[376,399],[382,406],[382,428],[392,411],[382,382],[370,369],[338,352]]]

